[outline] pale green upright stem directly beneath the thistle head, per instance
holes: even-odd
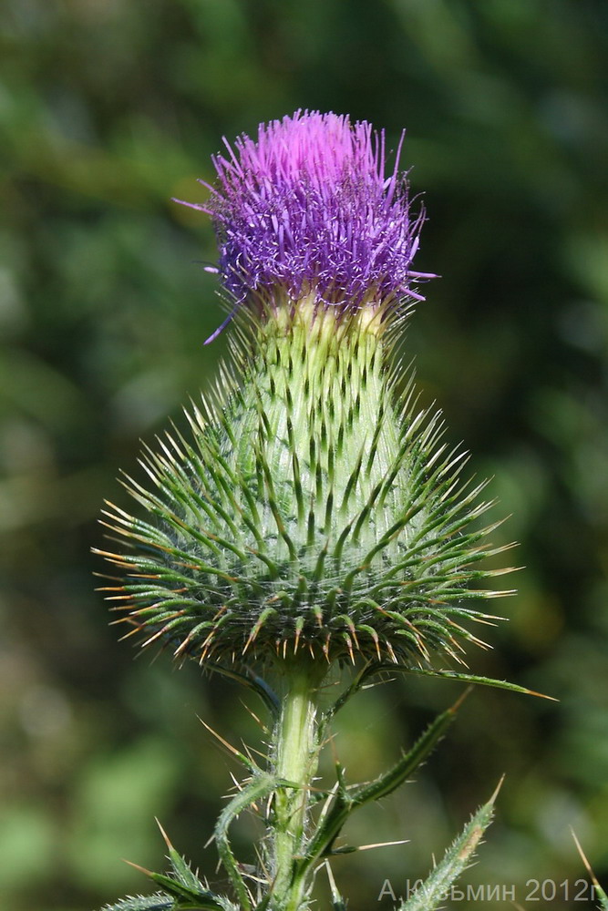
[[[275,729],[275,773],[292,787],[277,789],[273,825],[273,902],[276,911],[298,911],[305,881],[294,878],[302,856],[310,801],[310,785],[318,763],[316,690],[325,673],[319,663],[285,669],[286,692]]]

